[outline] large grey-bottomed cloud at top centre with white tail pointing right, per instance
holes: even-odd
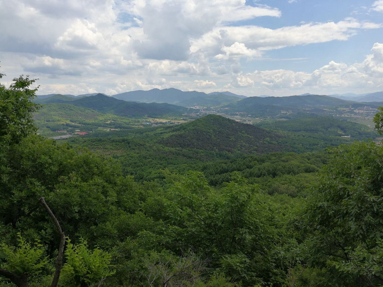
[[[132,15],[142,19],[144,39],[133,47],[146,59],[187,60],[191,39],[198,39],[220,23],[281,15],[276,8],[251,7],[245,0],[137,0],[128,6]]]

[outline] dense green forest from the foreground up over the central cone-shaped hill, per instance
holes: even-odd
[[[383,285],[380,145],[323,151],[323,135],[216,116],[59,143],[36,135],[33,83],[0,85],[0,286]],[[296,149],[244,153],[250,140]],[[83,147],[97,142],[127,153]]]

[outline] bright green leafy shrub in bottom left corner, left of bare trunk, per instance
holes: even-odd
[[[0,258],[5,261],[1,268],[16,274],[34,276],[43,271],[48,264],[45,248],[38,241],[33,245],[18,233],[18,246],[0,245]]]

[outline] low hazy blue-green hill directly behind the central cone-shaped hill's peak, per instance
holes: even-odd
[[[193,106],[223,106],[226,104],[239,101],[241,98],[236,96],[228,96],[224,93],[218,93],[213,95],[206,95],[201,97],[195,97],[191,99],[185,99],[177,103],[178,106],[193,107]]]

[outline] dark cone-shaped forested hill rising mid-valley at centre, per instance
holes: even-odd
[[[280,150],[275,133],[217,115],[171,127],[167,132],[171,135],[159,143],[168,147],[245,153]]]

